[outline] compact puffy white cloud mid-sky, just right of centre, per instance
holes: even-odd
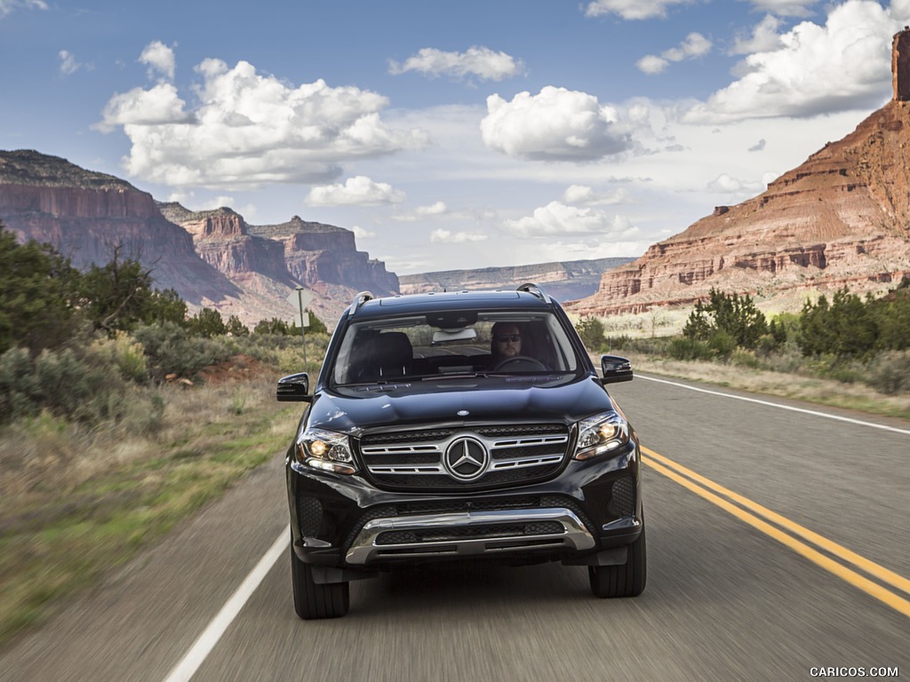
[[[510,156],[539,161],[590,161],[618,154],[632,141],[612,106],[587,93],[547,85],[506,102],[487,97],[480,121],[484,143]]]

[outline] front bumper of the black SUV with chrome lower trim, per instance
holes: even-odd
[[[290,455],[290,453],[289,453]],[[571,461],[532,486],[473,494],[403,493],[300,466],[288,456],[294,550],[312,565],[372,570],[400,563],[505,558],[597,563],[642,529],[640,460]]]

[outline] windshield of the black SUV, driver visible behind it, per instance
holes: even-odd
[[[458,311],[353,323],[331,377],[345,385],[565,373],[578,366],[569,337],[548,311]]]

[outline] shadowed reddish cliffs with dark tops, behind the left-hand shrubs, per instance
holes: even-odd
[[[35,151],[0,151],[0,220],[22,241],[50,243],[75,266],[120,257],[152,269],[158,288],[173,287],[190,312],[216,308],[248,326],[291,320],[296,286],[329,326],[362,289],[398,293],[398,277],[357,251],[354,234],[295,216],[279,226],[248,226],[229,208],[193,212],[157,204],[114,176]]]

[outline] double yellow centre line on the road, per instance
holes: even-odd
[[[688,488],[695,495],[721,507],[765,535],[790,547],[797,554],[806,557],[835,576],[843,578],[854,587],[859,587],[866,594],[875,597],[906,617],[910,617],[910,600],[885,587],[894,587],[905,595],[910,595],[910,580],[865,557],[860,557],[846,547],[841,547],[826,537],[776,514],[747,497],[738,495],[732,490],[696,474],[691,469],[677,464],[650,448],[642,447],[642,452],[646,455],[646,457],[642,457],[642,460],[654,471]],[[820,552],[819,549],[827,552],[827,555]],[[835,559],[839,559],[839,561]],[[875,577],[881,584],[870,580],[852,567],[860,569],[868,576]]]

